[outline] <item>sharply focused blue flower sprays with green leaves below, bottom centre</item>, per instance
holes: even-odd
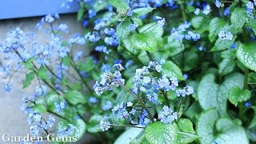
[[[175,124],[175,121],[178,121],[182,116],[182,111],[180,111],[182,99],[179,101],[174,100],[193,94],[192,87],[185,86],[182,89],[178,89],[177,78],[167,78],[166,74],[162,74],[162,66],[158,62],[150,62],[149,66],[143,66],[141,69],[136,70],[133,86],[130,90],[126,87],[125,80],[120,72],[124,70],[122,65],[116,64],[114,67],[117,68],[114,73],[110,71],[104,72],[102,80],[95,83],[95,92],[102,94],[103,90],[113,90],[118,86],[122,86],[129,95],[127,95],[125,102],[114,106],[112,109],[113,117],[106,116],[100,122],[102,131],[109,130],[111,126],[126,126],[117,124],[112,120],[118,118],[128,121],[132,124],[132,127],[146,128],[145,132],[144,130],[134,129],[135,132],[142,133],[139,136],[140,139],[135,138],[134,141],[136,142],[142,142],[143,137],[146,138],[146,140],[143,140],[144,142],[154,143],[177,141],[187,143],[193,142],[198,138],[195,134],[179,131],[178,126]],[[173,97],[173,102],[170,102],[170,97]],[[176,106],[175,103],[177,104]],[[157,114],[156,110],[158,110],[158,118],[154,118],[154,115]],[[190,122],[185,118],[182,120]],[[162,130],[159,130],[159,128]],[[194,131],[193,126],[188,127],[188,129]],[[158,132],[156,133],[155,130],[158,130]],[[127,137],[122,137],[124,137],[122,140],[117,140],[116,142],[125,142]],[[177,137],[180,137],[180,139]]]

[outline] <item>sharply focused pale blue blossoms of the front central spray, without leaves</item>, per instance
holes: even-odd
[[[120,64],[115,65],[114,67],[116,67],[117,70],[124,69]],[[140,101],[139,98],[142,98],[141,102],[149,102],[150,106],[161,105],[161,103],[158,102],[158,95],[167,93],[169,90],[176,90],[178,86],[177,78],[167,78],[166,74],[162,74],[161,72],[162,65],[160,65],[158,62],[150,62],[149,66],[143,66],[142,68],[137,69],[134,75],[134,86],[130,90],[130,94],[137,95],[135,96],[135,98],[138,101]],[[113,88],[116,87],[115,82],[114,87],[110,87],[110,89],[109,84],[106,84],[113,83],[113,78],[114,74],[108,77],[106,77],[106,74],[102,74],[102,82],[106,86],[106,90],[113,90]],[[106,79],[108,79],[109,81],[107,82]],[[103,88],[102,90],[98,90],[98,84],[99,83],[96,82],[96,89],[94,90],[96,91],[96,93],[102,94]],[[193,93],[194,90],[191,86],[185,86],[182,90],[176,90],[176,94],[178,97],[185,97],[186,95],[190,95]],[[140,104],[142,104],[141,102]],[[121,102],[118,105],[114,106],[114,108],[112,109],[114,118],[129,119],[131,124],[146,126],[148,123],[150,123],[150,117],[148,111],[146,110],[146,107],[141,107],[138,106],[137,103],[134,103],[136,102]],[[173,110],[170,109],[168,106],[164,106],[162,108],[162,111],[158,114],[158,119],[163,123],[173,122],[177,118],[178,113],[173,112]],[[114,124],[111,124],[109,122],[109,119],[110,117],[106,117],[100,122],[102,131],[109,130],[111,126],[114,126]],[[155,118],[154,121],[156,121]]]

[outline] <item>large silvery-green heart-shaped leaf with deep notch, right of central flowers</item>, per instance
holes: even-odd
[[[214,74],[206,74],[202,78],[198,86],[199,104],[203,110],[215,107],[220,114],[226,114],[228,92],[233,86],[242,88],[243,75],[238,73],[230,74],[226,76],[225,81],[220,85],[214,82],[214,79]]]

